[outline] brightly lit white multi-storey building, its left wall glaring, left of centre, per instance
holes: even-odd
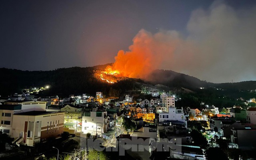
[[[107,112],[86,112],[82,117],[82,132],[93,136],[102,136],[109,128]]]

